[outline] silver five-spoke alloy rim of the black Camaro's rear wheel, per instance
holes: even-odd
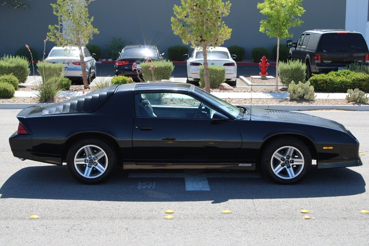
[[[108,156],[96,145],[86,145],[80,148],[74,157],[77,172],[85,178],[97,178],[108,167]]]

